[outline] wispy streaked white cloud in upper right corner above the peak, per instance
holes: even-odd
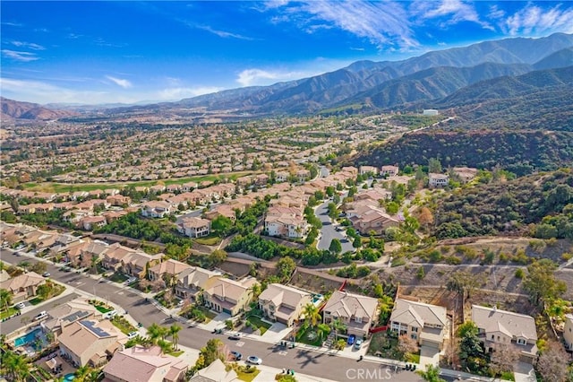
[[[548,31],[571,33],[573,32],[573,9],[561,9],[560,5],[542,9],[537,5],[527,4],[525,8],[502,22],[500,28],[512,36]]]

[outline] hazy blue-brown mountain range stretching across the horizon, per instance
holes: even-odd
[[[256,117],[346,113],[354,109],[455,108],[517,94],[527,98],[539,91],[569,94],[573,89],[571,71],[556,74],[554,69],[571,66],[573,35],[555,33],[540,39],[485,41],[402,61],[357,61],[337,71],[301,80],[218,91],[176,102],[102,108],[98,115],[102,112],[108,116],[189,115],[190,109],[196,109],[207,113],[232,110],[235,115]],[[529,77],[524,77],[527,74]],[[560,78],[558,82],[551,82],[551,87],[541,86],[543,79],[555,79],[555,75]],[[62,108],[65,111],[54,111],[30,105],[34,104],[16,107],[13,101],[3,99],[3,118],[51,119],[69,117],[65,113],[71,109],[82,114],[95,110],[68,105]]]

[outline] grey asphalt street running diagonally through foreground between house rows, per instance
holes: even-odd
[[[7,250],[3,250],[2,257],[10,264],[17,264],[27,258],[24,256],[13,256],[12,251]],[[52,273],[52,278],[58,282],[63,282],[78,291],[90,294],[95,292],[99,299],[109,300],[123,307],[130,316],[137,322],[141,322],[143,326],[147,327],[153,323],[169,326],[175,322],[158,310],[158,308],[155,308],[150,302],[146,302],[138,293],[124,285],[115,282],[100,282],[82,273],[61,272],[59,271],[59,266],[51,264],[47,265],[47,271]],[[66,298],[72,299],[73,296],[69,295]],[[54,301],[54,303],[57,302],[56,300]],[[38,314],[36,310],[46,310],[47,308],[34,309],[27,314],[35,315]],[[14,317],[3,323],[3,332],[5,330],[4,327],[20,326],[20,319],[21,316]],[[179,343],[194,349],[200,349],[210,338],[217,337],[226,343],[230,350],[241,352],[244,354],[244,357],[249,355],[261,357],[263,363],[267,366],[278,369],[295,369],[295,372],[298,371],[299,373],[338,381],[352,379],[384,380],[384,377],[387,375],[386,369],[390,368],[379,362],[358,361],[357,359],[335,356],[326,352],[315,352],[302,348],[282,349],[275,344],[262,343],[248,338],[244,338],[241,341],[231,341],[227,339],[225,334],[211,334],[210,331],[193,326],[184,326],[179,337]],[[393,370],[391,369],[392,372]],[[390,369],[388,372],[390,372]],[[365,378],[366,376],[370,376],[370,378]],[[392,374],[392,376],[396,377],[394,380],[405,382],[422,380],[414,373],[405,370],[400,370],[397,375]]]

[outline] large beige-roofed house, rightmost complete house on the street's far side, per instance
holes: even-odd
[[[519,360],[534,363],[537,357],[537,330],[534,317],[472,305],[472,321],[487,351],[507,345],[519,352]]]

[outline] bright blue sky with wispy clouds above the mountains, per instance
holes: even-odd
[[[573,3],[30,2],[1,7],[2,95],[181,100],[484,39],[573,33]]]

